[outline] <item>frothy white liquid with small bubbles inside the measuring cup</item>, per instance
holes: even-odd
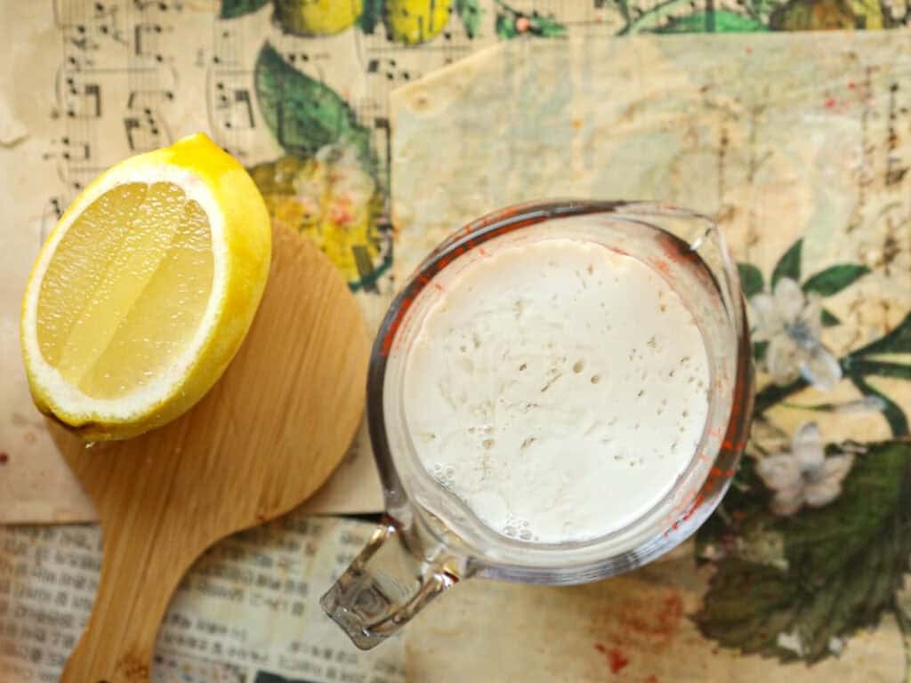
[[[581,240],[494,251],[427,311],[404,371],[418,457],[484,524],[596,538],[690,464],[709,371],[690,311],[639,260]]]

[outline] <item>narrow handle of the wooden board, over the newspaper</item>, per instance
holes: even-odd
[[[157,543],[154,526],[125,522],[111,537],[106,529],[95,605],[61,683],[148,683],[165,610],[203,550]]]

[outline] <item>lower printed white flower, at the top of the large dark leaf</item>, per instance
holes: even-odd
[[[793,515],[804,505],[828,505],[842,491],[854,455],[826,457],[816,423],[804,423],[793,435],[791,450],[767,455],[756,464],[756,474],[775,493],[772,512]]]

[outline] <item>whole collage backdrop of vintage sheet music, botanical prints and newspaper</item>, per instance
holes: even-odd
[[[403,277],[441,233],[467,218],[558,194],[660,197],[719,221],[757,305],[773,283],[794,285],[790,299],[773,307],[796,309],[797,318],[768,325],[766,346],[756,348],[760,367],[777,372],[761,375],[756,438],[732,494],[695,544],[634,575],[568,589],[456,586],[405,633],[408,679],[911,676],[911,456],[901,441],[911,374],[908,42],[904,32],[757,35],[901,28],[906,4],[454,0],[435,4],[436,14],[414,0],[353,5],[363,9],[356,22],[346,3],[332,11],[263,0],[0,8],[11,66],[0,73],[8,223],[0,252],[0,520],[93,515],[30,407],[16,316],[56,212],[129,153],[210,131],[251,168],[272,218],[317,240],[335,260],[374,324],[394,291],[393,274]],[[610,39],[691,31],[748,33]],[[517,37],[524,39],[509,42]],[[395,87],[497,41],[506,45],[405,87],[390,120]],[[486,117],[486,128],[472,117]],[[784,348],[798,332],[836,362],[843,378],[833,389],[819,388],[832,378],[818,372],[814,382],[793,379],[788,356],[769,367],[764,354],[772,342]],[[815,432],[804,429],[808,423]],[[794,433],[814,438],[792,444]],[[373,465],[363,438],[359,444],[363,453],[343,465],[322,509],[377,509]],[[791,460],[807,449],[816,457],[823,448],[824,464],[840,464],[831,481],[814,480],[822,465],[800,473],[796,486],[776,488],[758,474],[764,458]],[[811,491],[824,494],[825,505],[806,505]],[[779,499],[798,510],[774,514]],[[324,630],[325,620],[312,626],[327,576],[363,536],[314,535],[310,541],[332,557],[321,555],[309,570],[281,569],[311,577],[314,586],[300,600],[313,622],[301,622],[296,646],[287,629],[299,621],[282,616],[283,608],[257,612],[262,605],[225,597],[256,576],[242,566],[281,566],[281,546],[294,543],[301,533],[294,520],[305,512],[275,527],[277,540],[251,535],[219,545],[216,556],[230,556],[237,543],[253,552],[233,556],[241,567],[219,570],[223,590],[210,594],[209,607],[184,595],[172,607],[197,619],[194,629],[259,619],[257,633],[278,643],[267,656],[274,659],[259,666],[239,647],[212,665],[216,675],[203,670],[200,638],[181,640],[169,625],[157,680],[179,670],[189,680],[273,683],[282,678],[265,670],[280,669],[283,677],[320,683],[346,675],[400,679],[401,650],[347,661],[341,634]],[[76,579],[64,570],[74,543],[85,573],[75,600]],[[345,550],[333,554],[335,543]],[[0,529],[4,680],[36,672],[54,679],[87,613],[97,556],[94,527]],[[55,566],[58,557],[64,569]],[[211,576],[206,562],[193,576]],[[268,576],[262,581],[274,586]],[[297,589],[273,590],[291,609]],[[56,619],[60,610],[46,590],[75,617]],[[257,651],[267,647],[258,641]],[[350,668],[331,673],[338,667],[321,662],[326,647]],[[307,653],[305,661],[281,668],[282,648],[286,656]]]

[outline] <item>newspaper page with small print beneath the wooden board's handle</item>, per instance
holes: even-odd
[[[404,683],[395,637],[355,648],[318,600],[373,525],[290,515],[213,546],[159,631],[154,683]],[[97,590],[94,525],[0,527],[0,680],[60,677]]]

